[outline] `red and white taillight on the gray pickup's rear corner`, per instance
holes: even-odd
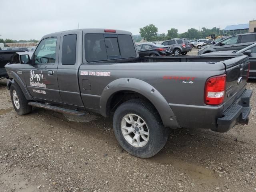
[[[223,103],[226,89],[226,74],[210,77],[205,84],[204,103],[219,105]]]

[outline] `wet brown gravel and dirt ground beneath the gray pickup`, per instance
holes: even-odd
[[[110,118],[39,108],[18,116],[1,82],[1,192],[256,191],[255,94],[247,126],[171,130],[156,156],[141,159],[118,145]],[[248,88],[255,93],[256,81]]]

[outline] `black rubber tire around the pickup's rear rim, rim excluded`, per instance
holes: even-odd
[[[148,125],[149,139],[146,145],[136,147],[130,144],[121,130],[122,119],[128,114],[136,114],[143,118]],[[113,127],[116,139],[128,153],[140,157],[149,158],[157,154],[166,144],[169,136],[169,128],[163,126],[162,120],[151,103],[134,99],[122,103],[114,112]]]

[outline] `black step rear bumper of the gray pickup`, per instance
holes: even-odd
[[[223,117],[217,119],[218,126],[214,131],[227,132],[236,124],[248,124],[251,96],[252,90],[244,90],[241,96],[224,111]]]

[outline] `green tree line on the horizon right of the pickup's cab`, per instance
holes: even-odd
[[[140,28],[140,36],[134,36],[134,40],[136,42],[140,42],[142,39],[146,41],[162,41],[172,38],[200,39],[206,38],[211,34],[218,36],[219,34],[222,35],[222,33],[223,30],[220,30],[217,27],[213,27],[212,29],[203,27],[201,30],[190,28],[187,32],[184,33],[178,33],[178,29],[170,28],[170,30],[167,31],[167,34],[158,34],[158,28],[153,24],[150,24]]]

